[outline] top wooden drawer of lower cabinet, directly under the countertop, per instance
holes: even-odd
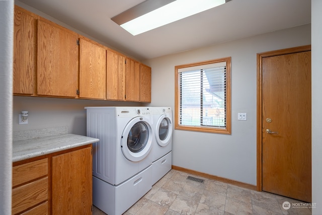
[[[12,186],[15,187],[48,174],[48,158],[13,167]]]

